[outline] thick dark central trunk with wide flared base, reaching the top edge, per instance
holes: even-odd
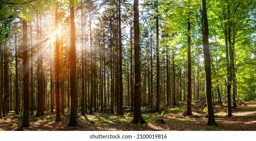
[[[135,53],[135,97],[133,123],[147,123],[141,115],[141,59],[140,59],[140,24],[139,0],[134,0],[134,53]]]

